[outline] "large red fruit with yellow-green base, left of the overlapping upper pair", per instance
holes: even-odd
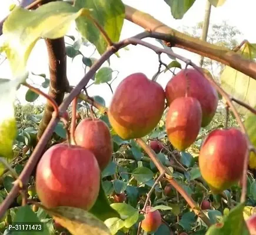
[[[147,135],[157,126],[164,107],[164,89],[143,73],[133,73],[115,90],[108,118],[122,139],[135,139]]]

